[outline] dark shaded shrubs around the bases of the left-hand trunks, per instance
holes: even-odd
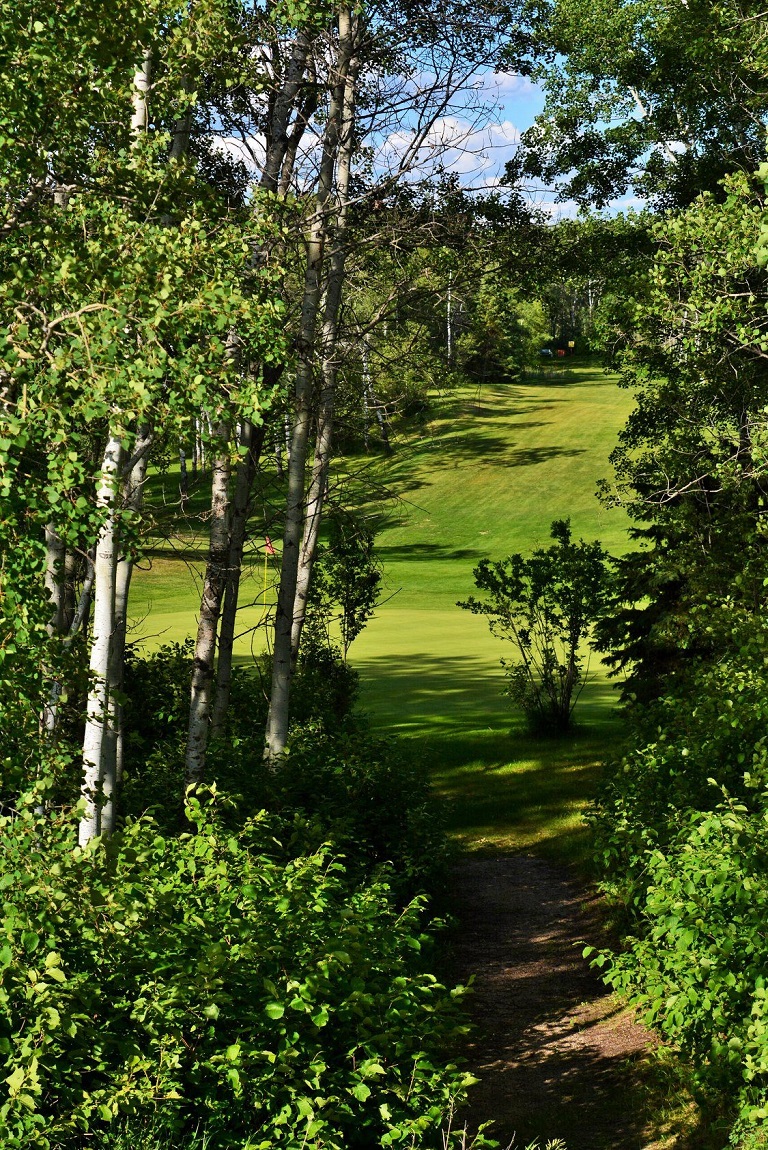
[[[261,753],[261,678],[236,668],[226,729],[207,760],[208,779],[237,799],[224,820],[236,829],[262,808],[298,816],[304,844],[310,825],[315,845],[331,839],[348,866],[370,871],[392,862],[399,897],[433,892],[443,882],[447,841],[425,768],[402,743],[376,737],[364,720],[350,716],[358,676],[338,652],[309,650],[297,676],[290,751],[275,770]],[[130,664],[135,702],[126,711],[123,811],[138,818],[152,810],[168,833],[179,826],[190,658],[189,644],[175,644],[133,654]]]

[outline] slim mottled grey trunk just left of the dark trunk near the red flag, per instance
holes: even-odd
[[[218,446],[212,468],[210,547],[200,601],[200,619],[198,622],[194,665],[192,669],[190,726],[186,741],[187,783],[201,781],[208,746],[214,662],[216,658],[216,631],[229,566],[230,435],[230,423],[226,420],[220,421],[215,431]]]

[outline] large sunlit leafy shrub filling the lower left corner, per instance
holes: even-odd
[[[0,820],[0,1141],[75,1148],[137,1128],[262,1150],[438,1141],[466,1078],[456,996],[425,973],[423,900],[352,883],[267,815],[231,834],[149,819],[74,849],[71,818]]]

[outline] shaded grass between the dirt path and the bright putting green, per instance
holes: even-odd
[[[500,695],[501,673],[482,659],[379,657],[355,667],[375,724],[418,742],[463,846],[585,861],[583,811],[621,737],[609,684],[587,685],[574,730],[547,738],[528,733]]]

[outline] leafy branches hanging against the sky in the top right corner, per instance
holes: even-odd
[[[547,94],[515,168],[605,206],[629,186],[683,206],[760,162],[763,12],[734,0],[551,0],[533,10]]]

